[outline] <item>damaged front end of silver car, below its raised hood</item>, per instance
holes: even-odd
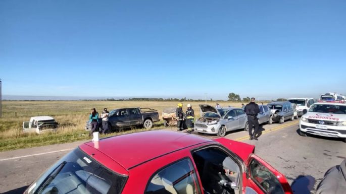
[[[220,125],[219,118],[201,117],[194,123],[194,131],[205,134],[217,134]]]

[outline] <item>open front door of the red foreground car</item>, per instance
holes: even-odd
[[[257,193],[293,194],[285,176],[255,154],[249,156],[246,167],[246,185]]]

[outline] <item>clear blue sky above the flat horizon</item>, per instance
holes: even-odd
[[[346,1],[0,1],[3,95],[346,94]]]

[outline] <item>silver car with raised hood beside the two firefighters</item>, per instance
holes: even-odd
[[[220,137],[226,132],[244,128],[249,130],[248,117],[241,108],[221,107],[200,104],[201,117],[194,123],[194,131],[205,134],[216,134]]]

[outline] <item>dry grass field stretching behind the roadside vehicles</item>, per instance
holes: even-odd
[[[103,108],[108,110],[122,107],[150,107],[159,111],[166,107],[175,107],[179,102],[172,101],[3,101],[3,115],[0,118],[0,151],[28,148],[57,143],[67,143],[77,140],[87,140],[88,132],[84,130],[92,107],[98,112]],[[190,103],[195,117],[200,117],[198,104],[202,102],[183,102],[183,110]],[[216,102],[210,102],[215,105]],[[221,106],[240,107],[240,102],[219,102]],[[59,129],[54,133],[24,134],[23,121],[29,121],[31,116],[53,116],[59,123]],[[164,128],[162,119],[156,122],[153,129]],[[133,133],[144,129],[132,129],[123,133]],[[118,135],[119,133],[108,136]],[[102,136],[104,137],[104,136]]]

